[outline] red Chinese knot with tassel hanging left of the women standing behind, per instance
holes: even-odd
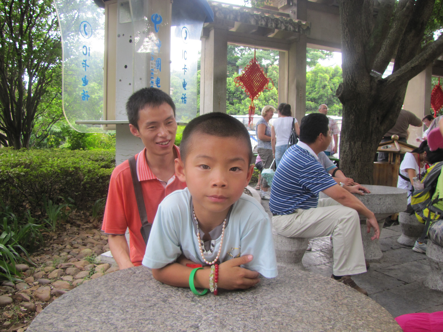
[[[271,88],[268,87],[269,81],[272,82]],[[274,87],[274,82],[272,79],[266,76],[263,68],[261,68],[258,64],[255,58],[255,50],[254,58],[249,62],[249,65],[247,65],[245,69],[241,70],[241,75],[235,77],[234,82],[236,86],[241,86],[242,89],[245,89],[247,96],[251,98],[251,104],[249,105],[248,112],[248,124],[251,124],[255,114],[254,99],[257,99],[264,89],[271,90]]]

